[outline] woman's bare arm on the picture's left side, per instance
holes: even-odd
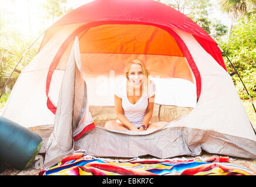
[[[128,129],[132,131],[138,131],[137,127],[134,126],[123,114],[122,99],[114,95],[114,108],[116,109],[117,119]]]

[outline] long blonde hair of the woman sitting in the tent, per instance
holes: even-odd
[[[127,63],[125,75],[126,75],[126,79],[128,81],[129,81],[128,76],[129,76],[129,71],[130,71],[131,64],[140,64],[142,66],[142,72],[143,72],[143,75],[144,75],[142,93],[144,93],[144,92],[148,93],[149,92],[149,70],[146,69],[145,63],[142,60],[140,60],[139,58],[135,58],[133,60],[130,60]]]

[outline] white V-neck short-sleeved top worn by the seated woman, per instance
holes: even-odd
[[[124,116],[137,128],[142,126],[143,118],[146,113],[148,99],[154,95],[156,89],[154,86],[154,82],[150,82],[150,89],[149,93],[143,94],[139,101],[135,104],[130,103],[127,98],[127,91],[126,91],[126,81],[122,82],[120,86],[115,89],[115,95],[122,99],[122,107],[124,111]],[[116,120],[117,123],[122,123],[118,119]]]

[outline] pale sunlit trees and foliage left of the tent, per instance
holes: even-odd
[[[12,0],[13,4],[17,4],[18,1]],[[29,5],[29,0],[27,0]],[[45,18],[44,19],[55,19],[63,16],[65,13],[72,10],[72,8],[66,8],[66,0],[46,0],[46,3],[43,4],[43,8],[45,9]],[[29,8],[29,7],[28,7]],[[33,43],[35,38],[25,37],[25,34],[22,34],[19,29],[14,29],[14,25],[17,20],[11,20],[13,17],[10,15],[8,10],[1,9],[0,12],[2,15],[0,18],[0,93],[4,88],[4,85],[11,75],[12,70],[14,69],[16,63],[21,59],[23,53],[28,49],[28,47]],[[8,16],[6,16],[8,15]],[[10,17],[11,16],[11,17]],[[29,19],[29,18],[28,18]],[[42,19],[43,20],[43,19]],[[41,21],[42,21],[41,20]],[[37,37],[37,36],[36,36]],[[27,64],[29,64],[32,58],[38,52],[40,45],[40,41],[33,44],[31,49],[23,56],[21,62],[19,63],[18,67],[16,68],[19,71],[22,71]],[[16,79],[18,78],[19,74],[14,72],[12,74],[11,79],[6,85],[5,93],[8,94],[11,92]],[[4,95],[2,96],[4,97]]]

